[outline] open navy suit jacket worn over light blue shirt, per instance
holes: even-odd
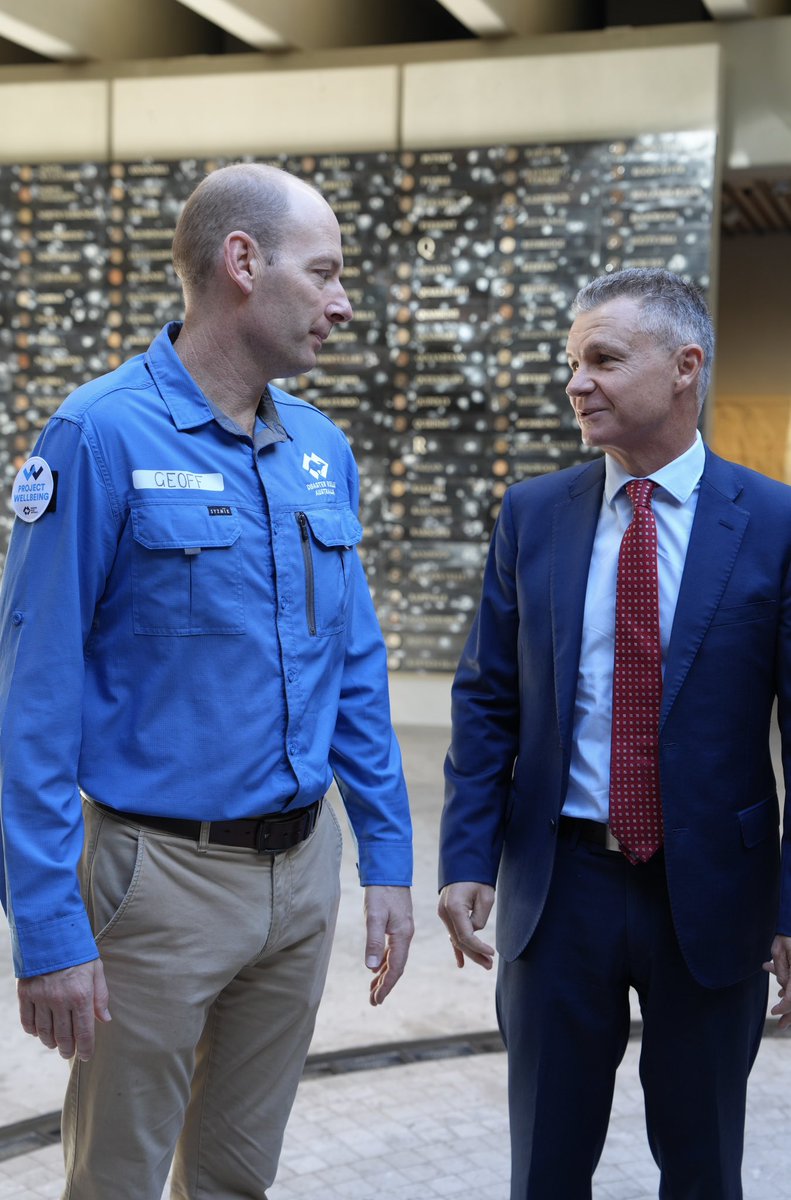
[[[509,488],[454,682],[439,882],[497,883],[508,960],[529,942],[552,877],[603,488],[601,458]],[[769,754],[777,698],[787,780],[790,572],[791,487],[707,450],[659,752],[676,932],[711,988],[760,970],[773,935],[791,934],[791,838],[781,868]]]

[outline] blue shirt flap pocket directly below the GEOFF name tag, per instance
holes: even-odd
[[[242,634],[241,527],[209,505],[132,509],[132,620],[136,634]]]

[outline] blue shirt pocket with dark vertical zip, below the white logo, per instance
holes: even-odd
[[[350,509],[314,509],[294,514],[305,580],[305,617],[311,637],[346,628],[350,556],[362,526]]]

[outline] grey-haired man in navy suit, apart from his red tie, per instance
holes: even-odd
[[[508,491],[454,683],[439,913],[459,966],[491,967],[497,883],[511,1200],[591,1196],[630,988],[659,1195],[738,1200],[767,971],[791,1024],[791,818],[781,865],[769,755],[777,701],[787,780],[791,488],[702,443],[713,343],[667,271],[580,292],[567,391],[604,456]],[[610,810],[631,479],[653,481],[661,658],[660,836],[636,862]]]

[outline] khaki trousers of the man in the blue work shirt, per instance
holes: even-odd
[[[172,1163],[172,1200],[265,1200],[326,977],[337,820],[325,804],[270,856],[84,811],[113,1020],[72,1066],[64,1200],[161,1200]]]

